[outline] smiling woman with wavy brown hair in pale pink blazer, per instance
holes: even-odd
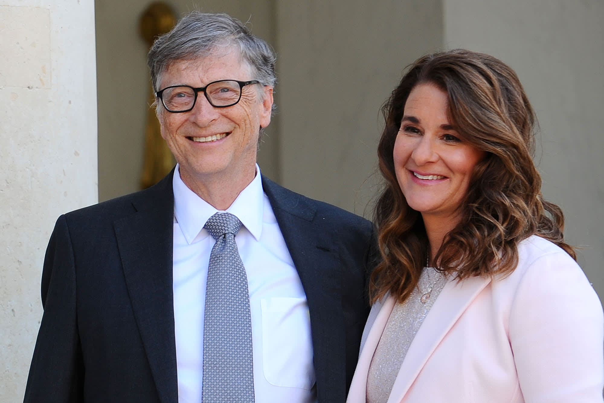
[[[602,306],[541,195],[516,74],[432,54],[383,111],[384,260],[348,402],[602,402]]]

